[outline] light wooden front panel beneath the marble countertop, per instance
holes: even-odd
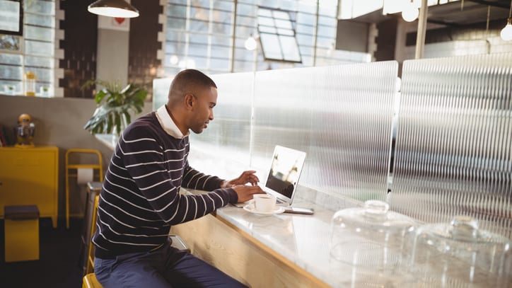
[[[171,231],[195,256],[250,287],[330,287],[218,215],[173,226]]]

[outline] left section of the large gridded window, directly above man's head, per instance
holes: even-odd
[[[164,74],[184,68],[231,71],[233,1],[170,0],[167,5]]]

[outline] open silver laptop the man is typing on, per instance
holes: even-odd
[[[291,205],[304,161],[306,161],[306,152],[279,145],[275,146],[267,180],[262,190],[274,195],[277,205]],[[235,206],[243,207],[248,202],[237,203]]]

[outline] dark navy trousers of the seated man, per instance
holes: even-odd
[[[216,267],[170,245],[115,259],[95,258],[94,272],[104,288],[246,287]]]

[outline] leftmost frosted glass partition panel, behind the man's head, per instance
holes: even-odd
[[[205,173],[235,177],[244,168],[250,167],[254,74],[247,72],[209,76],[216,83],[218,92],[214,120],[201,134],[191,132],[190,165]],[[167,103],[172,81],[173,78],[153,80],[153,110]]]

